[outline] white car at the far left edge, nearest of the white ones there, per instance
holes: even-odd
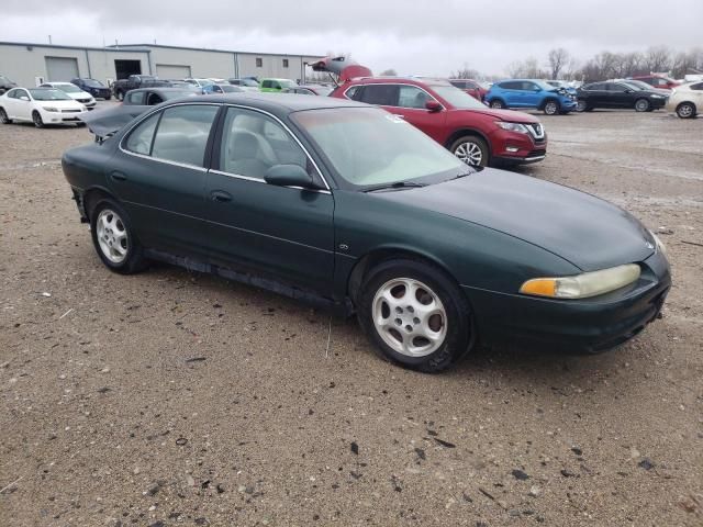
[[[53,88],[13,88],[0,96],[0,123],[29,121],[37,128],[46,124],[76,123],[88,112],[62,90]]]

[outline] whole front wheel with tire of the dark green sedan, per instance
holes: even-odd
[[[456,363],[473,344],[468,302],[439,269],[388,260],[361,285],[359,323],[384,359],[424,372]]]

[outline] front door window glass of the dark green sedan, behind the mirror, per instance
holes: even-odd
[[[267,115],[230,108],[222,131],[220,170],[264,179],[275,165],[299,165],[314,169],[290,134]]]

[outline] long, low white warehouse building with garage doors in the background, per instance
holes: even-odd
[[[303,80],[322,55],[227,52],[157,44],[80,47],[0,42],[0,75],[20,86],[89,77],[103,82],[133,74],[187,77],[280,77]]]

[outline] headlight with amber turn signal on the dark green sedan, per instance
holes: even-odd
[[[627,264],[574,277],[535,278],[523,283],[520,292],[553,299],[589,299],[624,288],[636,281],[640,273],[638,265]]]

